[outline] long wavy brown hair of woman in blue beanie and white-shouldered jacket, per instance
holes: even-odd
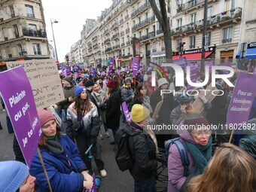
[[[88,111],[90,111],[93,106],[90,104],[90,99],[87,96],[87,99],[81,99],[81,94],[77,97],[75,97],[75,110],[77,111],[77,114],[82,114],[83,116],[87,114]]]

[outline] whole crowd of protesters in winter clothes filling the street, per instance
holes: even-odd
[[[151,85],[151,71],[154,70],[151,67],[142,68],[136,76],[133,76],[129,68],[117,70],[108,75],[104,69],[96,74],[90,74],[89,70],[83,69],[76,75],[61,76],[65,99],[51,108],[38,109],[43,133],[38,146],[53,191],[82,191],[92,187],[91,160],[85,154],[89,148],[100,175],[105,178],[107,172],[99,139],[110,137],[111,130],[114,140],[111,144],[116,144],[116,150],[118,143],[115,136],[120,129],[132,136],[128,142],[130,155],[133,157],[133,165],[129,171],[134,178],[136,192],[157,191],[159,148],[165,148],[166,141],[175,138],[179,144],[174,142],[175,145],[171,145],[166,151],[168,192],[256,191],[255,133],[243,136],[238,141],[239,146],[223,144],[215,150],[213,146],[218,142],[218,134],[224,139],[221,142],[228,142],[230,135],[223,136],[222,130],[213,132],[201,128],[202,125],[226,123],[227,108],[233,90],[224,81],[216,83],[217,89],[222,90],[224,95],[215,96],[210,101],[202,94],[162,94],[161,90],[181,92],[187,89],[174,86],[175,76],[172,71],[166,70],[168,78],[159,75],[154,87]],[[198,78],[197,81],[202,79]],[[235,82],[236,78],[231,81]],[[206,87],[195,88],[198,93],[205,89]],[[196,99],[203,103],[203,111],[200,113],[196,112],[197,106],[193,105]],[[126,114],[121,107],[123,102],[126,102],[130,111],[131,122],[126,120]],[[256,122],[255,102],[248,123]],[[154,115],[156,110],[157,115]],[[66,123],[62,123],[62,120]],[[178,126],[178,130],[157,133],[157,130],[148,129],[149,124],[173,124]],[[193,128],[184,130],[181,126]],[[0,124],[0,129],[1,127]],[[17,139],[14,136],[15,141]],[[180,146],[184,148],[186,166]],[[17,143],[14,145],[14,152],[16,160],[23,161]],[[6,165],[8,166],[8,162]],[[23,175],[28,174],[25,165],[17,166],[25,167]],[[1,169],[0,164],[0,172]],[[13,169],[11,172],[15,175],[16,171]],[[38,191],[49,190],[38,154],[35,154],[29,172],[32,175],[29,176],[29,182],[35,181]],[[29,191],[21,189],[27,181],[24,183],[24,178],[19,179],[19,182],[11,182],[14,190],[9,190],[10,186],[7,187],[3,181],[5,179],[0,179],[0,190],[16,191],[20,187],[20,191]]]

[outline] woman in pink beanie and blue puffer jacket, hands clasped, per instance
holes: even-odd
[[[75,143],[60,132],[56,118],[49,111],[38,109],[38,117],[42,127],[38,148],[52,190],[77,192],[82,191],[84,187],[90,189],[93,186],[93,178],[86,172],[87,166],[81,160]],[[32,160],[30,174],[36,178],[38,191],[49,191],[38,153]]]

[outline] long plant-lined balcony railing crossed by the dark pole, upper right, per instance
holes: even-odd
[[[224,23],[236,18],[242,17],[242,8],[234,8],[230,11],[224,11],[221,14],[213,15],[207,19],[207,26],[216,25],[219,23]],[[180,35],[184,32],[193,31],[195,29],[202,29],[203,28],[203,20],[198,20],[195,23],[190,23],[184,26],[177,27],[176,29],[172,30],[172,35]]]

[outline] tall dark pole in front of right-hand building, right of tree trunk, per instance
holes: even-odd
[[[201,60],[201,72],[205,70],[205,59],[206,59],[206,27],[207,27],[207,9],[208,9],[208,0],[205,0],[203,11],[203,41],[202,41],[202,60]]]

